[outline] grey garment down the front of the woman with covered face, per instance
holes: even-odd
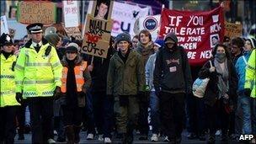
[[[221,97],[224,97],[224,94],[228,92],[229,85],[228,85],[228,68],[227,68],[227,58],[224,62],[224,70],[221,69],[221,63],[214,60],[214,65],[216,67],[216,72],[218,72],[218,99],[221,99]]]

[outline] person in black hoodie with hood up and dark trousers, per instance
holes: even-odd
[[[184,124],[185,95],[192,93],[192,77],[184,48],[177,36],[168,33],[164,46],[157,53],[154,87],[160,99],[164,141],[180,143]]]

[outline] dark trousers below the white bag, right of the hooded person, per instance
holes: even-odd
[[[196,135],[204,134],[206,130],[205,104],[202,99],[196,98],[192,93],[186,97],[187,114],[189,116],[188,131]]]

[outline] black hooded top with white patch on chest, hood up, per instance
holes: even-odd
[[[154,70],[154,87],[156,91],[166,93],[191,93],[192,77],[187,55],[182,46],[178,46],[176,35],[168,34],[165,41],[170,38],[175,42],[173,48],[167,45],[157,52]]]

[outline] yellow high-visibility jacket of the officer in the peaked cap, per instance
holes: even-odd
[[[56,49],[44,39],[42,43],[40,51],[36,52],[32,40],[29,40],[18,56],[15,66],[16,93],[23,91],[24,99],[50,97],[56,86],[61,87],[62,65]],[[49,45],[51,52],[46,56]]]

